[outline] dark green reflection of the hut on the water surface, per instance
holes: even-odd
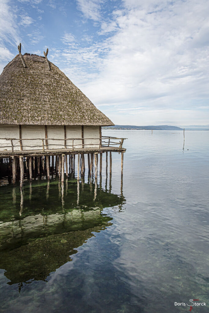
[[[63,209],[59,205],[57,184],[57,181],[51,183],[47,200],[43,198],[47,182],[33,184],[31,197],[30,186],[26,185],[24,195],[22,190],[16,190],[15,203],[12,203],[12,186],[2,187],[2,193],[8,194],[10,190],[10,200],[8,196],[2,197],[0,203],[0,268],[5,269],[4,275],[10,280],[10,285],[45,280],[51,272],[71,261],[70,256],[76,253],[75,249],[91,238],[92,232],[112,225],[112,218],[102,213],[103,208],[121,206],[125,201],[121,195],[96,187],[91,182],[91,187],[90,183],[83,183],[77,206],[77,183],[71,181],[71,188],[64,195]],[[23,201],[22,197],[24,206],[20,216],[17,208]],[[5,210],[5,205],[14,209]]]

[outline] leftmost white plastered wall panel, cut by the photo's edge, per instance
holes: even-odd
[[[19,138],[18,125],[0,125],[0,138]],[[20,150],[19,140],[13,140],[14,151]],[[12,151],[10,140],[0,139],[0,151]]]

